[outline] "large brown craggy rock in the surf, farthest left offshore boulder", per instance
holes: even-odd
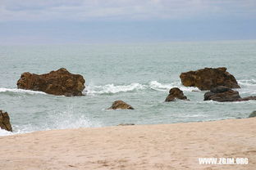
[[[71,74],[66,69],[58,69],[48,74],[21,74],[17,87],[25,90],[41,91],[57,96],[82,96],[85,79],[80,74]]]

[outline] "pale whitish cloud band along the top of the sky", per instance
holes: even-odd
[[[255,0],[1,0],[0,20],[154,20],[256,17]]]

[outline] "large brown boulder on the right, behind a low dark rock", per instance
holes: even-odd
[[[229,88],[240,88],[235,77],[226,72],[225,67],[204,68],[189,71],[180,75],[181,83],[185,87],[198,87],[200,90],[210,90],[213,87],[226,86]]]

